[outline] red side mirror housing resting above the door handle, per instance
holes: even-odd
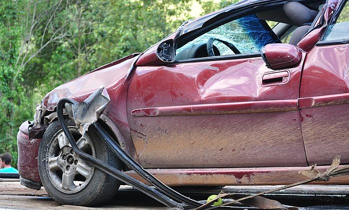
[[[262,47],[261,55],[267,67],[273,70],[291,67],[302,59],[301,49],[292,44],[267,44]]]

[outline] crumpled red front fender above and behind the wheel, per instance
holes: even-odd
[[[131,156],[137,157],[126,113],[126,96],[128,81],[139,55],[132,54],[119,59],[121,62],[114,61],[53,89],[41,102],[41,113],[37,114],[40,116],[38,124],[48,125],[57,118],[56,106],[60,99],[82,102],[100,86],[104,86],[111,100],[100,119],[106,124],[105,129],[114,133],[120,146]]]

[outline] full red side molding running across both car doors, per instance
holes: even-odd
[[[134,109],[133,116],[181,116],[207,114],[237,114],[257,112],[295,111],[326,105],[349,104],[348,94],[300,98],[298,100],[275,100],[256,102],[236,102],[207,105],[180,105]]]

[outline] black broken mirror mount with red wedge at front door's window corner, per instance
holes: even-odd
[[[136,66],[166,65],[174,62],[174,56],[174,40],[168,39],[145,51],[136,62]]]

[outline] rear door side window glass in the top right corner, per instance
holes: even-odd
[[[336,22],[327,28],[323,41],[349,39],[349,3],[345,5]]]

